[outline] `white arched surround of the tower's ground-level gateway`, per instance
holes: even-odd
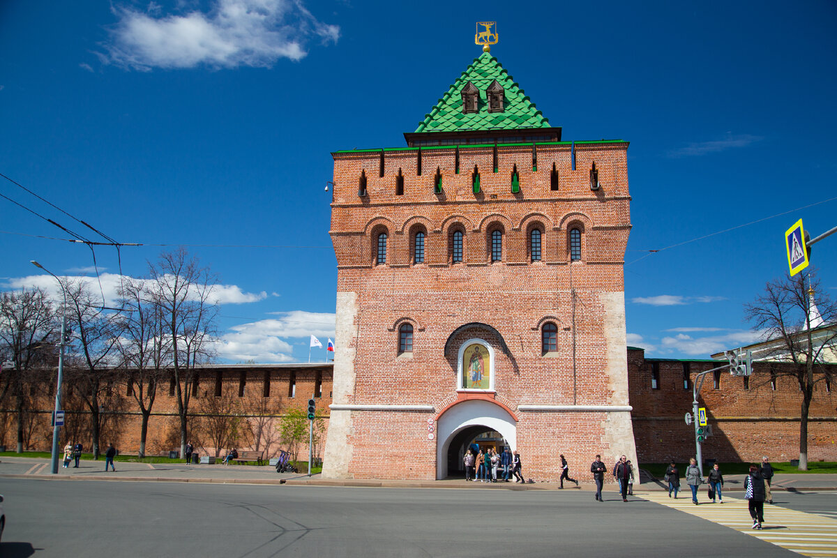
[[[457,403],[439,417],[436,427],[436,479],[448,476],[450,440],[463,428],[482,426],[500,433],[514,451],[517,448],[517,424],[506,409],[481,399]]]

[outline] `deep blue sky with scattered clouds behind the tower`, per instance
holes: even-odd
[[[631,142],[629,344],[706,358],[754,339],[742,304],[787,273],[784,231],[837,226],[837,4],[728,4],[6,0],[0,173],[145,244],[96,248],[106,292],[186,245],[224,285],[220,361],[306,361],[334,330],[331,151],[404,145],[496,20],[492,54],[564,140]],[[0,289],[54,289],[32,259],[90,275],[89,248],[0,207]],[[814,246],[824,295],[835,256]]]

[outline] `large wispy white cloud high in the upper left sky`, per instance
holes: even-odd
[[[119,21],[104,44],[105,63],[128,69],[269,68],[278,59],[303,59],[305,44],[336,42],[340,28],[318,21],[300,0],[215,0],[208,12],[161,15],[116,8]]]

